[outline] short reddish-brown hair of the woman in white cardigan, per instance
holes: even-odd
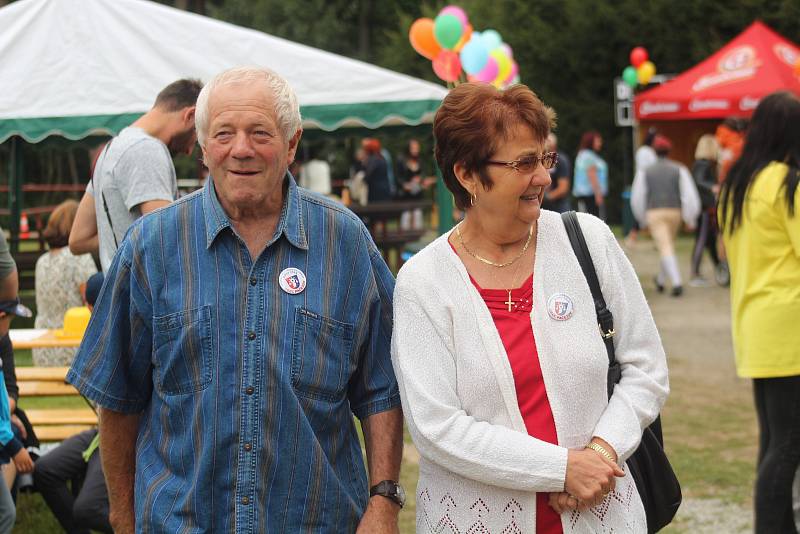
[[[518,125],[533,130],[544,140],[555,127],[555,113],[525,85],[500,90],[485,83],[462,83],[445,97],[433,119],[434,154],[456,206],[469,206],[469,192],[456,178],[453,167],[461,163],[478,173],[485,189],[492,187],[486,160],[497,152]]]

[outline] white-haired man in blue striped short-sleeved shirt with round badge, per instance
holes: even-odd
[[[68,375],[102,407],[112,526],[397,532],[391,273],[352,213],[287,173],[302,130],[284,79],[225,71],[196,117],[211,178],[132,226]]]

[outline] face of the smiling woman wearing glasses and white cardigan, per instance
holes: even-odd
[[[544,139],[536,139],[533,131],[524,125],[515,127],[508,139],[492,154],[493,161],[514,161],[525,156],[541,156]],[[533,170],[520,172],[505,165],[490,164],[486,172],[492,188],[486,190],[478,182],[477,201],[472,209],[482,216],[508,221],[509,231],[528,227],[539,218],[544,191],[550,186],[550,173],[539,161]],[[477,178],[476,178],[477,179]]]

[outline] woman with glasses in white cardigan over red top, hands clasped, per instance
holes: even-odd
[[[407,262],[392,361],[420,452],[417,532],[629,532],[646,519],[625,460],[668,392],[636,274],[581,215],[617,319],[622,380],[558,214],[540,209],[552,111],[523,85],[462,84],[436,114],[436,159],[464,221]]]

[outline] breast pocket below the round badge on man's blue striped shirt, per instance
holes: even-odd
[[[297,308],[292,340],[292,386],[297,394],[330,402],[344,398],[352,347],[352,324]]]

